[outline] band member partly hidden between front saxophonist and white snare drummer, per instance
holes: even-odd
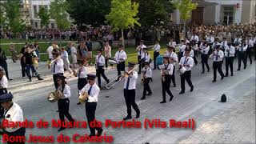
[[[166,51],[165,55],[169,55],[170,57],[170,63],[174,66],[173,74],[171,74],[171,82],[174,83],[174,87],[176,87],[176,81],[175,81],[175,65],[176,62],[178,62],[177,54],[175,53],[174,46],[167,46],[168,50]]]

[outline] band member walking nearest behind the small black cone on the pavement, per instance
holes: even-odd
[[[218,70],[218,73],[222,76],[222,79],[224,78],[224,74],[222,72],[222,58],[223,57],[224,57],[224,53],[221,50],[221,45],[217,45],[216,50],[213,52],[213,54],[210,54],[210,58],[214,58],[214,63],[213,63],[214,80],[213,80],[213,82],[216,82],[217,70]]]

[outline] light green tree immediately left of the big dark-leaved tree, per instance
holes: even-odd
[[[58,26],[58,29],[65,30],[70,27],[70,22],[67,19],[67,10],[69,5],[65,0],[55,0],[50,2],[50,18],[53,18]]]

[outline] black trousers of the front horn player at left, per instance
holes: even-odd
[[[70,112],[70,99],[64,98],[58,100],[58,114],[59,119],[64,122],[64,116],[70,121],[74,122],[74,119],[72,118]]]

